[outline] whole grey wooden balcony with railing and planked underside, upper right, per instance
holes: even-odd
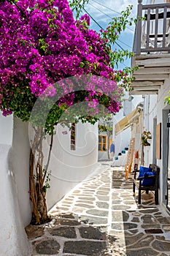
[[[170,4],[142,5],[138,1],[132,67],[135,77],[131,94],[158,94],[170,74]]]

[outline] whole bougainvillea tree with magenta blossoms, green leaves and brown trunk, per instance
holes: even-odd
[[[128,12],[129,9],[126,15]],[[112,68],[115,57],[111,58],[114,53],[110,54],[108,38],[113,37],[113,24],[101,34],[89,29],[89,25],[88,15],[74,20],[66,0],[0,1],[0,110],[4,116],[13,113],[22,121],[34,123],[30,197],[32,222],[36,224],[48,219],[47,167],[54,127],[62,113],[75,102],[82,101],[87,102],[87,108],[93,109],[93,113],[97,113],[96,106],[100,104],[105,105],[109,113],[116,113],[121,108],[123,86],[127,88],[130,83],[127,70]],[[117,39],[117,35],[114,38]],[[85,75],[90,75],[90,80]],[[80,86],[78,90],[81,76],[86,87]],[[74,83],[70,77],[75,78]],[[96,77],[103,80],[96,83]],[[55,99],[56,94],[62,97],[51,107],[43,127],[37,120],[41,119],[41,111],[46,107],[39,110],[36,118],[31,118],[31,111],[37,99],[44,100],[48,108],[50,99]],[[75,116],[92,124],[98,118],[96,114],[76,113]],[[47,133],[51,135],[51,143],[44,165],[42,140]]]

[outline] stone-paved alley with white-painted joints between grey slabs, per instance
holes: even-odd
[[[50,210],[51,222],[26,227],[31,255],[170,255],[169,214],[155,206],[152,192],[138,206],[124,176],[103,162]]]

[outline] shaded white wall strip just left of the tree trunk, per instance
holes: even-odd
[[[19,118],[14,118],[9,167],[15,174],[20,214],[25,227],[31,221],[31,202],[29,199],[29,153],[28,123],[21,121]]]

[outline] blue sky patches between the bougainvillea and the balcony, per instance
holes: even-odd
[[[137,0],[90,0],[89,4],[86,5],[85,10],[105,29],[109,21],[113,17],[120,15],[120,12],[128,7],[128,4],[132,4],[133,10],[131,12],[131,17],[136,18],[137,11]],[[90,28],[99,31],[99,26],[93,21],[90,21]],[[119,44],[123,49],[132,50],[134,40],[134,26],[128,26],[125,31],[120,35],[117,44]],[[118,45],[114,45],[115,48],[120,49]],[[120,69],[125,66],[131,66],[131,60],[128,59],[124,61],[124,64],[120,64]]]

